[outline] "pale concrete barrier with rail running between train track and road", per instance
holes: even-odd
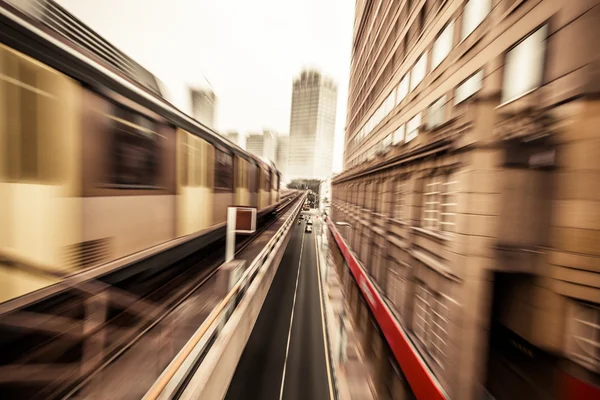
[[[145,400],[225,396],[304,197],[146,393]]]

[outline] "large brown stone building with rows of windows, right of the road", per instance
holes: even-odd
[[[331,218],[449,397],[600,383],[599,3],[357,2]]]

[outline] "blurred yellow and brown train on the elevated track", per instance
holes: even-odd
[[[273,165],[178,111],[64,9],[0,10],[0,301],[52,280],[11,263],[64,276],[279,201]]]

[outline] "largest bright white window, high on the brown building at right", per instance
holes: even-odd
[[[544,25],[506,54],[502,101],[515,99],[542,84],[548,25]]]

